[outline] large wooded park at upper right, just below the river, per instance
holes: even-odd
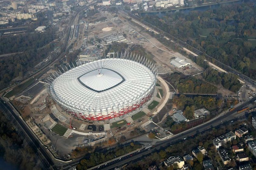
[[[245,2],[188,14],[167,13],[161,18],[145,15],[143,19],[255,79],[256,71],[251,65],[256,62],[256,47],[248,41],[256,38],[255,15],[254,5]],[[207,30],[208,36],[200,36]]]

